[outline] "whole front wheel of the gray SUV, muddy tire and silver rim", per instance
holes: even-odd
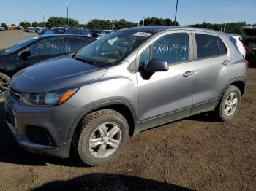
[[[129,126],[124,116],[104,109],[83,118],[72,143],[83,163],[94,166],[116,158],[128,139]]]

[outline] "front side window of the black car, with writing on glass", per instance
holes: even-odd
[[[63,38],[45,39],[29,47],[32,56],[35,55],[55,55],[64,52]]]

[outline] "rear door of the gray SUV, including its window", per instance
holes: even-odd
[[[192,114],[214,109],[225,86],[225,71],[230,63],[227,46],[216,34],[192,32],[197,79]]]

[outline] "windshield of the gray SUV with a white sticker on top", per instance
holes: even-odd
[[[105,63],[114,65],[135,50],[150,33],[136,31],[116,31],[98,39],[84,47],[75,58],[91,61],[95,64]]]

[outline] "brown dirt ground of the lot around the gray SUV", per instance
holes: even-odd
[[[146,130],[129,139],[118,159],[86,167],[20,149],[1,102],[0,190],[256,190],[255,105],[256,69],[250,68],[233,121],[199,114]]]

